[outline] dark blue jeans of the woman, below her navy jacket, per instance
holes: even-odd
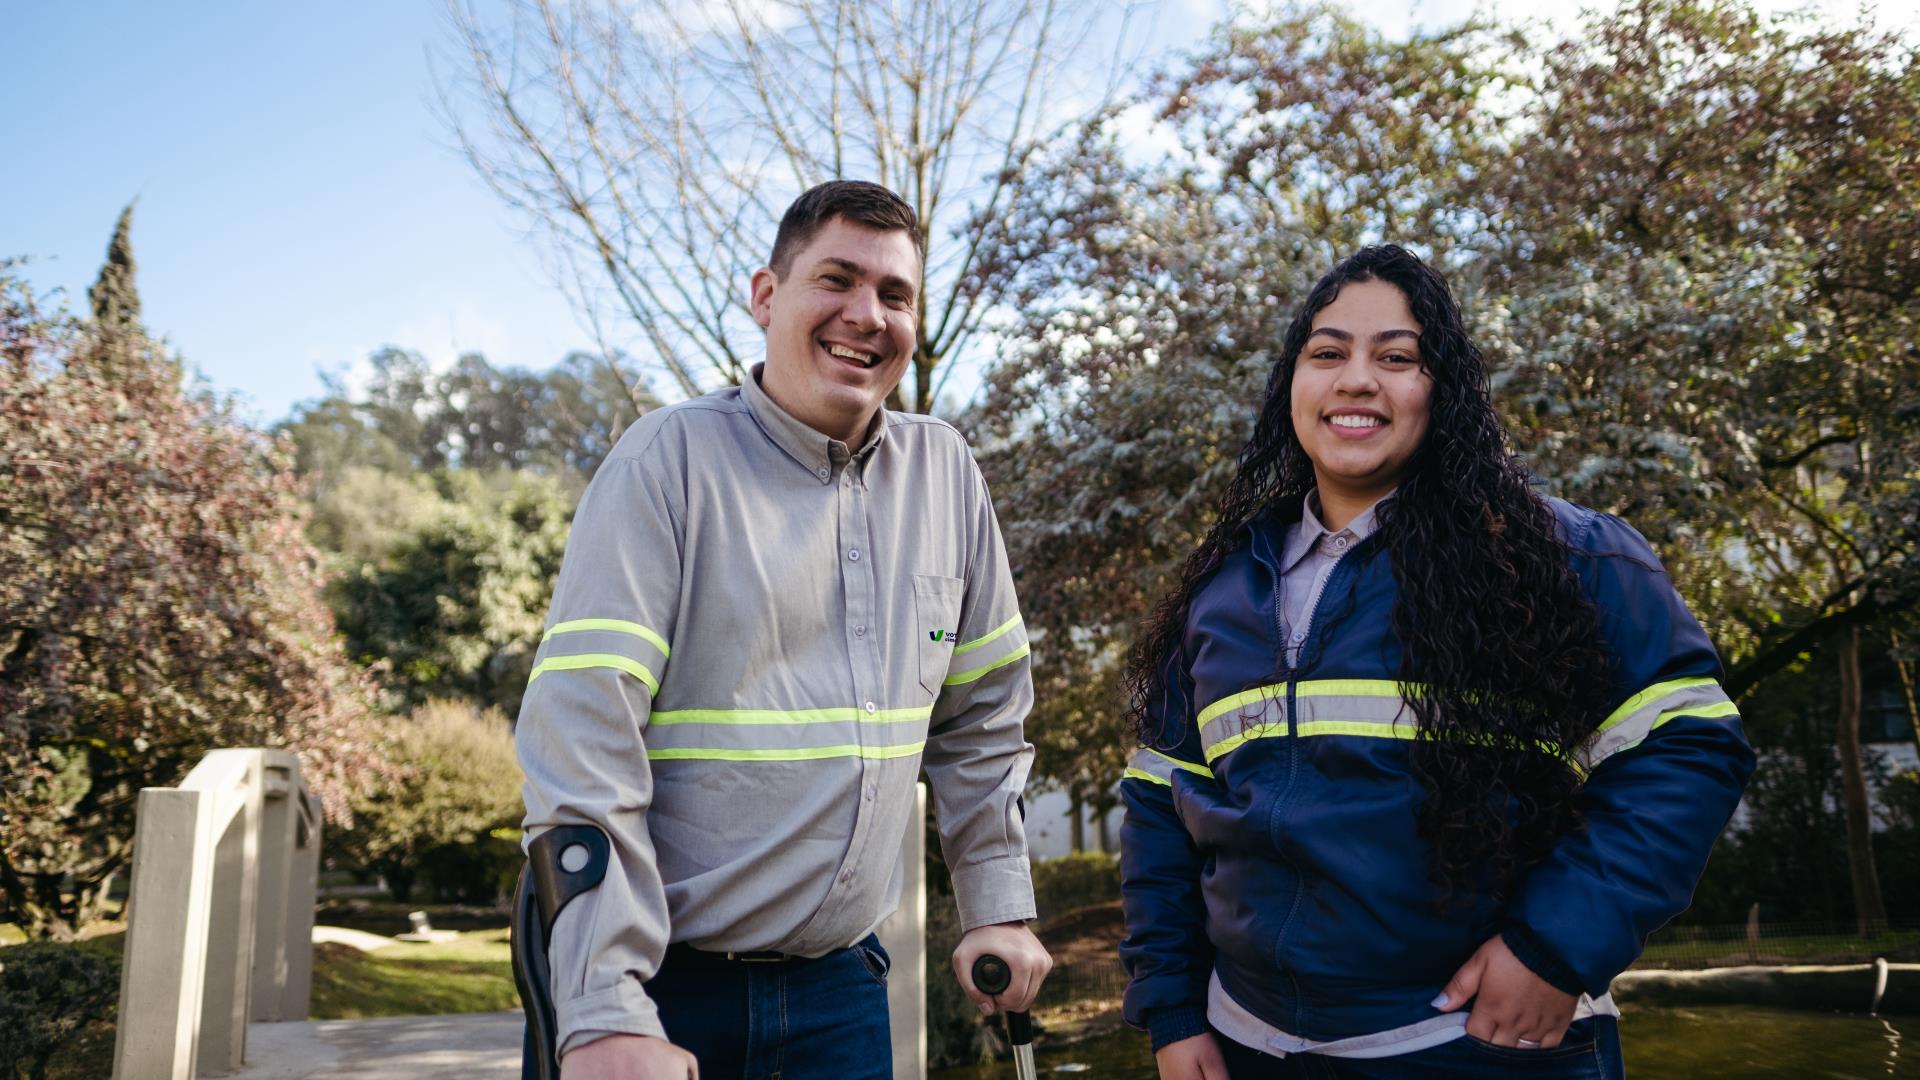
[[[1588,1017],[1567,1028],[1553,1049],[1517,1049],[1484,1043],[1473,1036],[1402,1053],[1398,1057],[1325,1057],[1290,1053],[1273,1057],[1213,1034],[1233,1080],[1624,1080],[1620,1024],[1613,1017]]]

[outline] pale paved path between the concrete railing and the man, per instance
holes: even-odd
[[[520,1076],[520,1013],[250,1024],[234,1080]]]

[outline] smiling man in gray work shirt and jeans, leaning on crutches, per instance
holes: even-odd
[[[536,871],[580,872],[553,838],[605,851],[555,905],[566,1080],[891,1076],[874,928],[922,767],[962,988],[1025,1009],[1050,967],[1000,530],[960,434],[883,407],[922,267],[893,192],[803,194],[753,275],[766,361],[634,425],[580,502],[516,728]]]

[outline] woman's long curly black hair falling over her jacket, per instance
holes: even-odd
[[[1292,425],[1294,365],[1313,315],[1359,281],[1405,294],[1432,377],[1427,438],[1396,498],[1380,503],[1375,552],[1390,559],[1400,586],[1398,678],[1419,721],[1413,765],[1428,796],[1419,832],[1432,846],[1428,871],[1442,897],[1463,878],[1505,892],[1555,836],[1580,826],[1580,778],[1569,759],[1601,719],[1607,653],[1555,515],[1507,450],[1480,350],[1467,340],[1446,279],[1404,248],[1380,244],[1342,259],[1288,325],[1213,527],[1129,655],[1133,721],[1142,742],[1177,736],[1150,721],[1146,705],[1165,692],[1165,661],[1181,646],[1194,592],[1246,523],[1313,488],[1313,463]]]

